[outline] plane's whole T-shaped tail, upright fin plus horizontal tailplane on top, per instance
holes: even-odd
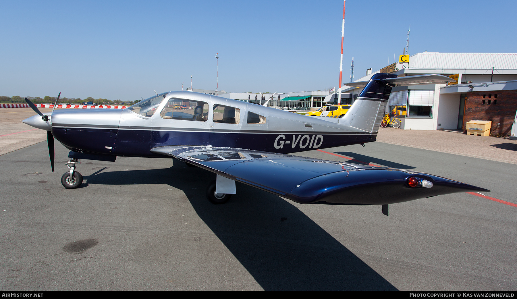
[[[377,133],[384,117],[391,88],[452,81],[454,80],[440,74],[397,77],[396,74],[376,73],[369,81],[346,83],[349,86],[364,88],[345,116],[339,118],[339,123],[361,131]]]

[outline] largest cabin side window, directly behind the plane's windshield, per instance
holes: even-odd
[[[208,120],[208,104],[200,101],[170,98],[160,116],[181,121],[206,122]]]

